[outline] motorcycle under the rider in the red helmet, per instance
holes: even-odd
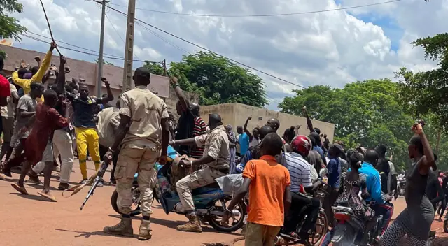
[[[311,198],[311,197],[309,197]],[[292,238],[286,234],[280,233],[279,236],[276,237],[274,241],[275,245],[296,245],[296,244],[304,244],[304,245],[320,245],[323,236],[328,231],[328,218],[325,214],[325,210],[322,208],[323,200],[325,198],[325,188],[321,187],[316,191],[314,198],[318,198],[320,201],[320,208],[318,213],[318,219],[316,224],[314,225],[314,230],[309,234],[308,241],[302,240],[301,238]],[[304,226],[304,222],[306,221],[308,215],[304,215],[304,219],[297,225],[297,229],[295,233],[299,234],[302,226]]]

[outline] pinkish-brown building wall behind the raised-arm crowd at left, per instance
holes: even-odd
[[[0,45],[0,49],[6,52],[7,59],[5,60],[5,66],[3,71],[13,72],[15,67],[19,66],[19,61],[24,59],[27,64],[36,66],[34,57],[40,56],[41,59],[45,57],[45,53],[37,52],[35,50],[25,50],[21,48],[15,48],[6,45]],[[53,54],[57,54],[53,52]],[[66,57],[66,66],[69,66],[70,73],[66,74],[66,80],[71,81],[71,78],[85,79],[83,84],[91,85],[95,87],[97,81],[98,64],[81,61],[77,59],[71,59]],[[59,67],[59,56],[53,55],[51,63]],[[123,88],[123,68],[119,66],[111,66],[104,64],[103,76],[109,80],[111,88],[122,89]],[[132,83],[132,88],[134,83]],[[165,76],[151,74],[151,84],[148,85],[148,89],[153,92],[157,92],[158,96],[167,98],[169,96],[169,78]]]

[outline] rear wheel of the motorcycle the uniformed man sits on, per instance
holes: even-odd
[[[218,210],[219,212],[224,212],[224,208],[222,205],[229,205],[230,201],[232,201],[232,197],[225,197],[221,198],[220,200],[216,201],[214,206],[211,208],[211,210]],[[244,225],[244,217],[246,217],[246,205],[244,204],[244,201],[240,201],[237,205],[235,205],[234,210],[239,211],[239,217],[230,217],[229,224],[227,226],[223,225],[221,223],[222,217],[216,216],[216,215],[210,215],[207,217],[207,221],[213,227],[216,231],[223,231],[223,232],[233,232],[237,231]]]

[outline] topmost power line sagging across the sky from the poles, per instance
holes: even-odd
[[[86,0],[86,1],[93,1],[93,0]],[[162,11],[162,10],[151,10],[151,9],[146,9],[146,8],[136,8],[136,9],[149,11],[149,12],[153,12],[153,13],[169,14],[169,15],[188,15],[188,16],[202,16],[202,17],[272,17],[272,16],[285,16],[285,15],[306,15],[306,14],[311,14],[311,13],[324,13],[324,12],[331,12],[331,11],[338,11],[338,10],[348,10],[348,9],[353,9],[353,8],[364,8],[364,7],[377,6],[377,5],[386,4],[386,3],[394,3],[397,1],[402,1],[402,0],[383,1],[380,3],[369,3],[369,4],[364,4],[364,5],[358,5],[358,6],[332,8],[332,9],[315,10],[315,11],[307,11],[307,12],[260,14],[260,15],[208,15],[208,14],[176,13],[176,12],[169,12],[169,11]],[[120,6],[120,7],[127,7],[127,6],[124,6],[121,4],[117,4],[117,3],[109,3],[109,4],[115,5],[115,6]]]

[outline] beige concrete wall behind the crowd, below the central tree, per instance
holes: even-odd
[[[283,132],[290,128],[290,126],[297,125],[302,125],[299,134],[309,134],[306,118],[296,115],[288,115],[274,110],[267,110],[266,108],[257,108],[240,103],[201,106],[201,115],[205,122],[207,122],[207,117],[210,113],[218,113],[221,115],[223,123],[231,124],[235,131],[237,126],[244,126],[247,117],[250,116],[252,117],[252,120],[248,123],[248,129],[253,129],[255,126],[264,126],[270,118],[277,118],[280,121],[280,128],[277,133],[279,133],[280,136],[283,136]],[[332,143],[333,136],[335,135],[335,124],[313,120],[313,126],[321,129],[321,133],[327,134],[330,143]]]

